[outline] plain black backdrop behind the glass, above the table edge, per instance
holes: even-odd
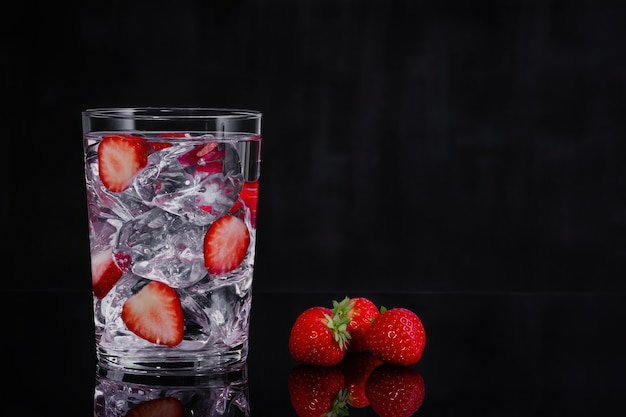
[[[0,286],[90,286],[80,111],[178,105],[264,113],[260,291],[623,291],[624,6],[15,3]]]

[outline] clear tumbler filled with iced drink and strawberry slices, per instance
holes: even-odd
[[[261,114],[83,112],[101,373],[199,375],[248,353]]]

